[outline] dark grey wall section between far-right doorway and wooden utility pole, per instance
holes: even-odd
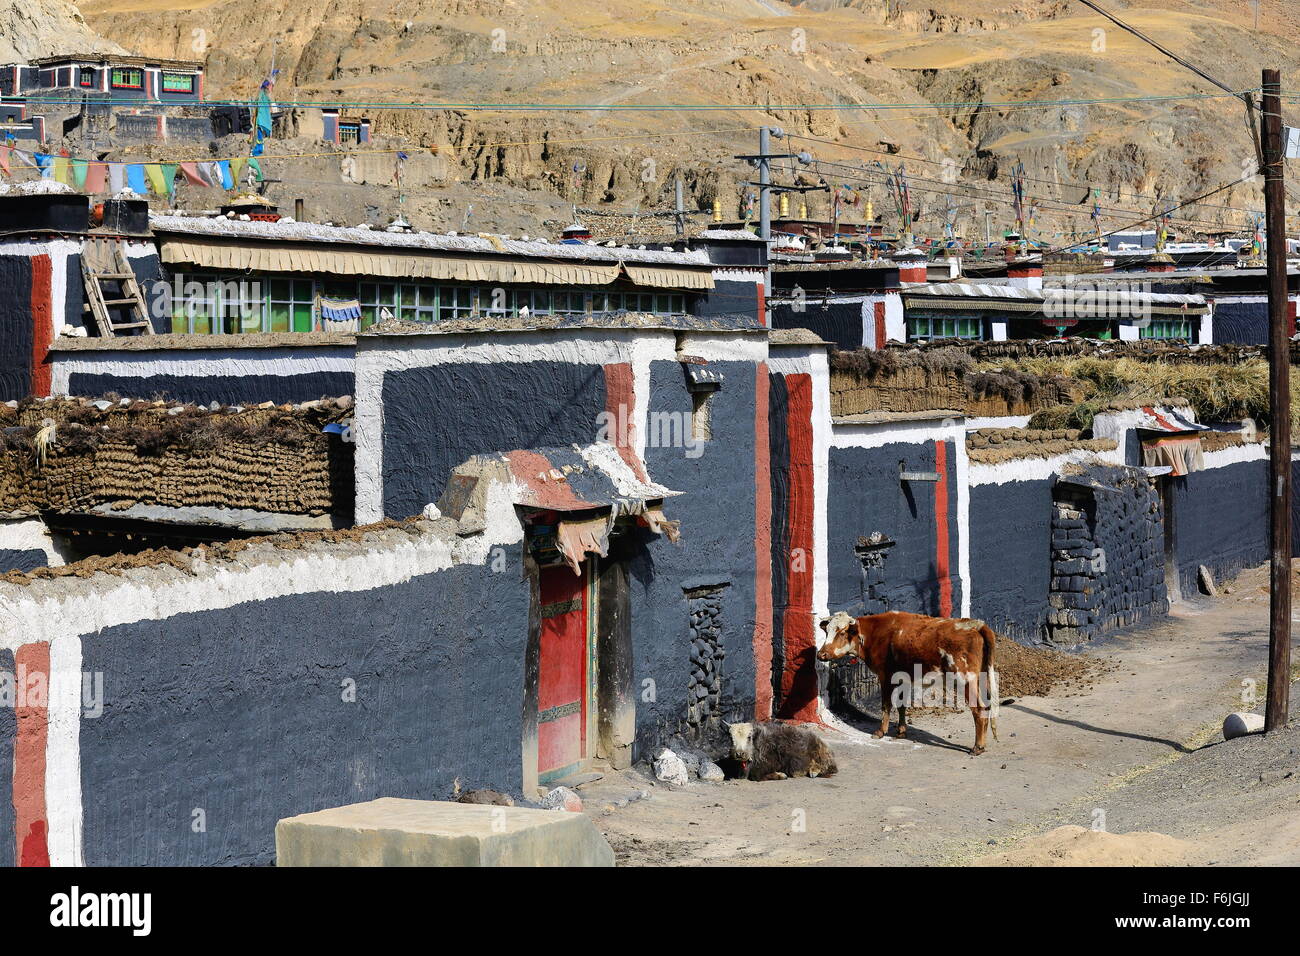
[[[1200,564],[1219,581],[1269,559],[1268,460],[1239,462],[1171,480],[1174,557],[1184,594],[1196,593]]]

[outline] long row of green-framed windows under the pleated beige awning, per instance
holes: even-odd
[[[451,321],[471,315],[653,312],[682,315],[680,293],[619,293],[552,289],[448,286],[416,282],[177,274],[172,332],[312,332],[329,329],[320,299],[356,300],[363,329],[386,317]],[[590,303],[590,304],[589,304]]]

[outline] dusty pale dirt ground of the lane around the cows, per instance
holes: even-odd
[[[581,788],[586,812],[623,865],[1300,864],[1300,728],[1218,730],[1243,680],[1264,687],[1265,581],[1248,571],[1091,648],[1109,665],[1096,683],[1004,706],[983,757],[966,752],[968,715],[928,711],[906,741],[827,731],[831,779],[607,774]]]

